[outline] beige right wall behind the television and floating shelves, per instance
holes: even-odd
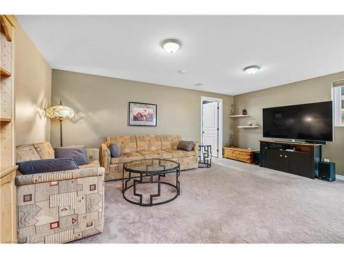
[[[250,92],[234,97],[237,111],[247,109],[248,118],[235,118],[235,142],[239,147],[259,148],[263,139],[262,109],[283,105],[313,103],[331,100],[332,81],[344,78],[344,72],[330,74],[310,80],[302,80],[278,87]],[[238,129],[248,120],[256,120],[259,129]],[[344,175],[344,127],[334,127],[334,142],[323,146],[323,158],[336,162],[336,173]]]

